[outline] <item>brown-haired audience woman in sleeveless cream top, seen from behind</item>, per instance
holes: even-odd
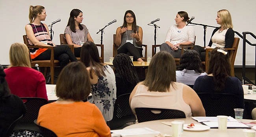
[[[130,95],[130,106],[135,108],[165,108],[181,110],[186,117],[205,116],[197,93],[189,86],[175,82],[176,65],[173,56],[160,51],[148,66],[146,79],[137,84]]]

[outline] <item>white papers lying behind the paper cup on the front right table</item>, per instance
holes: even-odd
[[[217,117],[192,117],[192,119],[210,126],[210,128],[218,128],[218,119]],[[248,125],[243,124],[242,122],[237,121],[233,117],[228,117],[227,128],[250,128]]]

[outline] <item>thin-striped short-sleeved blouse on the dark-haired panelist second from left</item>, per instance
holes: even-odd
[[[76,29],[76,32],[71,31],[70,26],[67,26],[64,31],[64,38],[66,38],[65,34],[70,35],[72,42],[77,45],[80,45],[81,42],[87,41],[87,34],[89,33],[89,31],[85,25],[81,25],[83,29]]]

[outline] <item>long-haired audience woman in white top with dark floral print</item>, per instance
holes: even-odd
[[[96,45],[87,41],[81,49],[81,61],[87,67],[92,84],[92,99],[105,119],[113,117],[116,100],[115,73],[107,64],[101,63]]]

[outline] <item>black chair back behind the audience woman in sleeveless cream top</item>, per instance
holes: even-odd
[[[155,111],[157,113],[155,113]],[[180,119],[186,118],[183,111],[162,109],[162,108],[135,108],[138,122],[154,121],[160,119]]]

